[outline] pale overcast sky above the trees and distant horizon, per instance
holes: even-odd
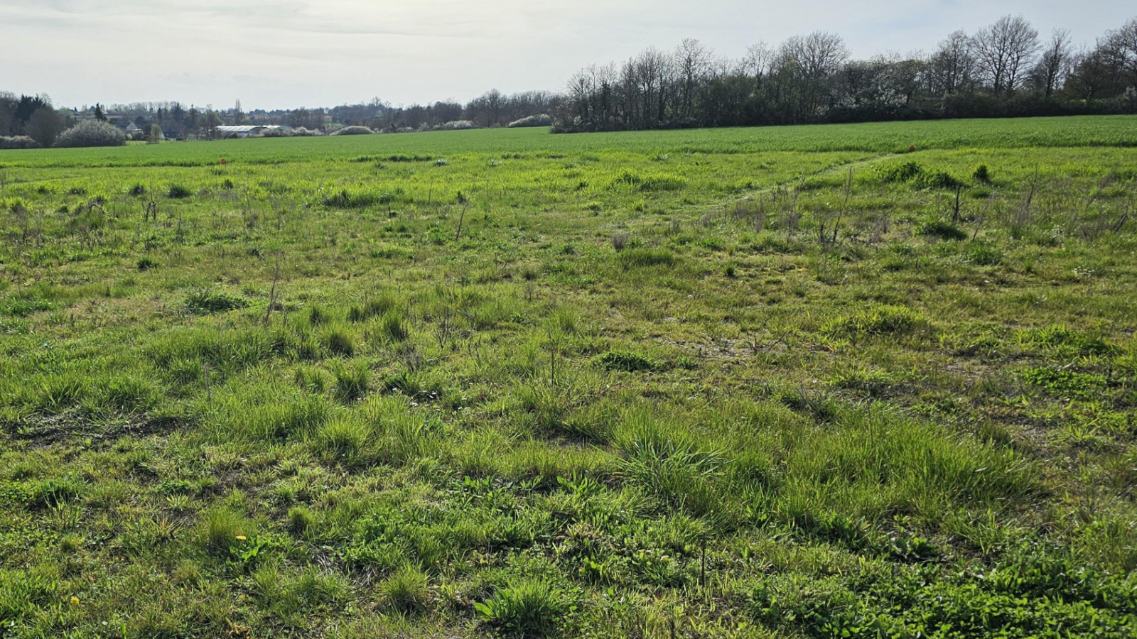
[[[1132,0],[0,0],[0,91],[56,106],[177,100],[246,110],[466,101],[561,90],[589,63],[696,38],[717,53],[821,30],[853,55],[931,50],[1004,14],[1076,43]]]

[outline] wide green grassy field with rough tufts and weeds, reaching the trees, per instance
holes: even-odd
[[[0,151],[0,638],[1137,628],[1137,117]]]

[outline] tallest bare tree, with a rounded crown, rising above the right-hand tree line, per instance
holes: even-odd
[[[1038,31],[1022,16],[1003,16],[972,39],[976,61],[996,96],[1013,92],[1038,50]]]

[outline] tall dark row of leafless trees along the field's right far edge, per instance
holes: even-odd
[[[741,59],[697,40],[572,76],[557,131],[1137,113],[1137,18],[1076,49],[1022,16],[952,33],[930,55],[852,59],[814,32]]]

